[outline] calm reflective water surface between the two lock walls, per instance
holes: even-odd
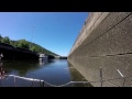
[[[66,61],[52,59],[48,62],[4,62],[3,69],[6,75],[18,75],[35,79],[43,79],[52,85],[64,85],[69,81],[85,81],[86,79]],[[7,86],[13,86],[13,79],[7,79]],[[22,79],[16,79],[19,86],[30,86]],[[91,85],[70,85],[70,86],[90,86]]]

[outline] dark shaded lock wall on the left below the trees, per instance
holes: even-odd
[[[9,44],[0,43],[0,54],[3,54],[2,61],[38,61],[36,52],[32,52],[21,47],[14,47]]]

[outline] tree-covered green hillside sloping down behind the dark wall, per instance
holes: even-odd
[[[18,41],[12,41],[10,40],[8,36],[4,36],[2,37],[0,35],[0,43],[6,43],[6,44],[10,44],[14,47],[22,47],[22,48],[26,48],[29,51],[33,51],[33,52],[37,52],[37,53],[44,53],[44,54],[47,54],[47,55],[53,55],[53,56],[59,56],[35,43],[32,43],[32,42],[29,42],[26,40],[18,40]]]

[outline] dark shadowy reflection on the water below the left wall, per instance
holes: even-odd
[[[40,64],[31,61],[29,62],[18,61],[18,62],[3,63],[3,69],[7,75],[16,73],[19,76],[26,76],[26,73],[31,70],[35,70],[37,68],[40,68]]]

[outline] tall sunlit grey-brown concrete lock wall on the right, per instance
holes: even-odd
[[[132,76],[132,12],[91,12],[68,55],[68,62],[89,81]],[[92,82],[99,87],[100,82]],[[105,81],[103,87],[122,86],[123,79]],[[132,86],[132,77],[124,86]]]

